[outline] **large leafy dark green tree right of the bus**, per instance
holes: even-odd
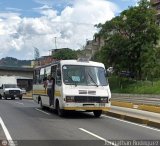
[[[155,46],[160,31],[155,14],[150,2],[140,0],[138,6],[129,7],[111,21],[97,25],[106,41],[100,53],[103,62],[118,70],[135,72],[141,79],[146,64],[151,60],[153,64],[157,59]]]

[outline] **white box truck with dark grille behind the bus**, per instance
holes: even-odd
[[[18,97],[22,100],[22,91],[17,87],[17,80],[11,76],[0,76],[0,99],[15,99]]]

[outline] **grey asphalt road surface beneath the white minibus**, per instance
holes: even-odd
[[[160,140],[159,129],[105,115],[95,118],[91,113],[72,112],[61,118],[53,111],[42,111],[32,100],[0,100],[0,117],[17,146],[99,146],[110,145],[110,142],[125,145],[133,140]],[[3,138],[2,129],[0,125]],[[156,141],[156,144],[160,145],[160,142]]]

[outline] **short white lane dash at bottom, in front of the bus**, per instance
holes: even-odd
[[[88,133],[88,134],[90,134],[90,135],[92,135],[92,136],[94,136],[94,137],[96,137],[96,138],[104,141],[104,142],[105,142],[105,145],[110,144],[110,145],[113,145],[113,146],[118,146],[118,145],[114,144],[113,142],[110,142],[110,141],[104,139],[103,137],[100,137],[100,136],[98,136],[98,135],[96,135],[96,134],[94,134],[94,133],[92,133],[92,132],[90,132],[90,131],[88,131],[88,130],[86,130],[86,129],[84,129],[84,128],[79,128],[79,130],[82,130],[83,132],[86,132],[86,133]]]

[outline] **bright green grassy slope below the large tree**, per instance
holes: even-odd
[[[160,79],[136,81],[133,79],[109,77],[111,92],[134,94],[160,94]]]

